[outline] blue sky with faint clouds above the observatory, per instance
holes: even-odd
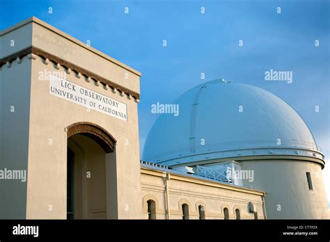
[[[91,40],[92,47],[142,72],[141,151],[157,118],[151,104],[169,103],[203,81],[223,77],[264,88],[288,102],[329,161],[329,12],[329,1],[317,0],[0,0],[0,29],[34,15],[83,42]],[[270,69],[292,71],[293,82],[265,81]],[[330,201],[327,166],[324,181]]]

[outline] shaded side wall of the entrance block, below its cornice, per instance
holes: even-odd
[[[2,47],[2,46],[1,46]],[[0,169],[28,165],[31,60],[13,61],[0,70]],[[13,111],[13,112],[12,112]],[[27,175],[27,172],[26,172]],[[0,218],[25,218],[26,184],[0,180]]]

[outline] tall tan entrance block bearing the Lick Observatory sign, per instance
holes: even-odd
[[[66,218],[67,156],[77,216],[140,218],[141,74],[34,17],[0,35],[1,166],[28,177],[1,182],[1,218]]]

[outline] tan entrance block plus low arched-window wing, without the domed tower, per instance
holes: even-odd
[[[36,17],[0,44],[0,218],[267,217],[265,191],[140,162],[140,72]]]

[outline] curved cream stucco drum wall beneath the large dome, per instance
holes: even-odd
[[[267,191],[267,218],[330,218],[321,166],[310,161],[285,159],[240,161],[242,169],[254,170],[254,180],[244,186]],[[313,190],[308,189],[311,173]]]

